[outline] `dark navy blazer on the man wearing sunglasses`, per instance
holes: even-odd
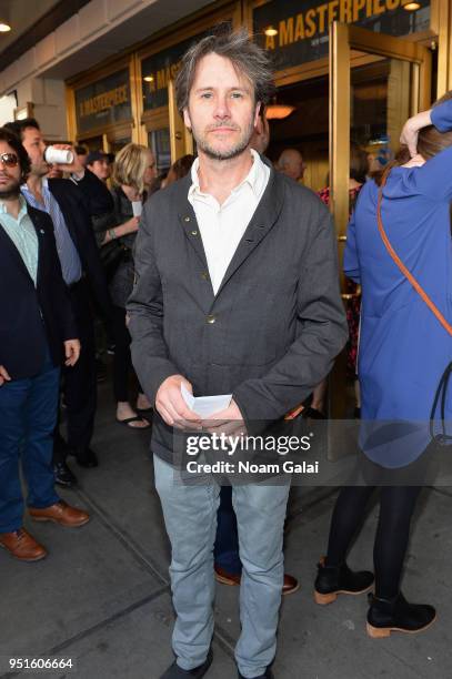
[[[37,375],[47,347],[53,363],[59,365],[63,341],[78,336],[52,221],[46,212],[30,205],[28,213],[39,243],[36,287],[18,249],[0,226],[0,365],[12,379]]]

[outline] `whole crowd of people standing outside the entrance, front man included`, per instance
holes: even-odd
[[[50,166],[34,119],[0,129],[0,546],[20,560],[47,556],[23,528],[26,505],[34,520],[90,519],[54,485],[77,483],[69,455],[99,464],[91,439],[101,335],[114,351],[112,418],[129,429],[152,424],[175,609],[175,660],[162,679],[207,673],[215,577],[241,587],[239,677],[271,678],[281,595],[298,589],[283,570],[290,479],[175,484],[174,432],[252,427],[300,404],[324,416],[325,378],[348,337],[356,415],[426,423],[442,385],[442,418],[452,418],[452,93],[406,122],[401,153],[372,178],[363,150],[351,148],[344,271],[363,302],[352,295],[345,315],[329,188],[318,196],[303,186],[298,149],[274,165],[265,158],[265,52],[243,31],[208,36],[183,57],[175,92],[198,153],[165,176],[140,144],[114,160],[56,144],[72,162]],[[205,423],[181,387],[232,398]],[[428,443],[420,434],[410,462]],[[406,463],[392,455],[392,466]],[[380,488],[374,572],[346,565],[374,490],[341,489],[314,597],[324,605],[373,589],[370,636],[421,631],[435,610],[401,591],[419,486]]]

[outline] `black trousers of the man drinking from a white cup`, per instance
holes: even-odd
[[[97,406],[96,342],[88,284],[82,278],[69,288],[81,344],[80,358],[72,367],[62,369],[68,446],[82,455],[89,447],[94,429]],[[67,446],[57,425],[53,462],[64,459]]]

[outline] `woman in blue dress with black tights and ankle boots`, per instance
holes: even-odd
[[[372,446],[361,439],[376,465],[402,467],[421,456],[429,443],[429,420],[441,377],[452,361],[452,336],[402,273],[378,226],[442,316],[452,322],[452,91],[430,111],[410,119],[398,160],[361,190],[344,255],[345,274],[362,286],[358,374],[362,418],[380,426],[405,423],[405,436]],[[450,389],[451,391],[451,389]],[[452,394],[445,419],[452,419]],[[366,445],[369,444],[369,445]],[[319,604],[338,594],[368,591],[369,571],[346,566],[350,544],[360,528],[374,486],[348,486],[338,497],[324,560],[319,564],[314,597]],[[435,618],[432,606],[409,604],[400,590],[410,521],[419,486],[383,486],[374,541],[375,591],[368,632],[415,632]]]

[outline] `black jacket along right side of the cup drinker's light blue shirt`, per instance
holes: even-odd
[[[50,179],[49,190],[63,214],[99,311],[109,318],[111,316],[110,295],[81,189],[69,180]]]

